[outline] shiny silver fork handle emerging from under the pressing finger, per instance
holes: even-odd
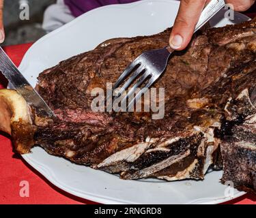
[[[217,14],[224,6],[225,6],[224,0],[212,0],[208,5],[205,6],[203,9],[201,16],[197,22],[197,26],[195,27],[195,32],[197,32],[203,25],[205,25],[206,22],[208,22],[215,14]],[[167,50],[172,53],[174,52],[174,49],[171,48],[171,46],[166,47]]]

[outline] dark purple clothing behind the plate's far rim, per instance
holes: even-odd
[[[96,7],[119,3],[131,3],[134,1],[139,0],[64,0],[64,3],[68,5],[72,14],[77,17]]]

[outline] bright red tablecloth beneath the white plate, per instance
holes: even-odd
[[[16,65],[31,44],[5,47],[5,52]],[[0,76],[0,89],[6,80]],[[29,197],[20,197],[20,182],[29,183]],[[10,139],[0,136],[0,204],[91,204],[72,196],[49,183],[40,173],[31,168],[22,158],[12,152]],[[228,204],[256,204],[256,196],[246,194]]]

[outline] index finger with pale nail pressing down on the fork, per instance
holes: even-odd
[[[206,0],[182,0],[177,13],[169,44],[175,50],[183,50],[191,40]]]

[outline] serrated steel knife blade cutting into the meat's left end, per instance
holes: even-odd
[[[10,84],[16,91],[24,97],[27,104],[32,105],[46,116],[55,116],[51,108],[44,102],[44,99],[38,94],[31,84],[26,80],[23,74],[14,65],[12,60],[6,55],[0,46],[0,72],[8,79]]]

